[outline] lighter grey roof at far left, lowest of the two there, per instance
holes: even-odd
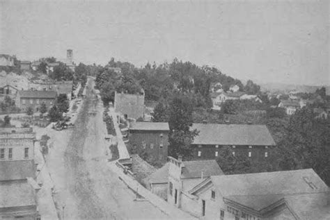
[[[35,195],[27,181],[0,182],[0,208],[36,205]]]

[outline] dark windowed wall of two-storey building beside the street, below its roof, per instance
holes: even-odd
[[[168,131],[129,130],[129,143],[139,152],[145,150],[150,159],[166,162]],[[152,147],[151,144],[153,144]]]

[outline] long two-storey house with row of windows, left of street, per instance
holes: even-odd
[[[55,103],[57,93],[54,91],[37,91],[37,90],[19,90],[15,99],[15,105],[26,111],[29,107],[33,112],[38,112],[41,103],[45,103],[47,110],[52,108]]]

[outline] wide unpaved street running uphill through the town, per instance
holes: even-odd
[[[89,80],[73,130],[62,130],[52,137],[54,147],[47,164],[56,185],[61,217],[64,214],[64,219],[168,219],[148,201],[134,201],[134,192],[107,166],[109,156],[105,151],[109,144],[104,140],[102,106],[92,84]],[[97,114],[89,115],[93,110]]]

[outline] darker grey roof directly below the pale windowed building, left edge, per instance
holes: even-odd
[[[36,167],[33,160],[0,161],[0,181],[35,178]],[[1,196],[0,196],[1,198]]]

